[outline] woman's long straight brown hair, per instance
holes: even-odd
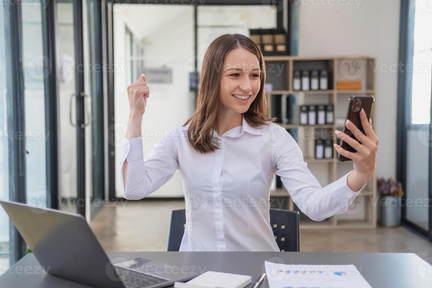
[[[187,129],[187,139],[191,146],[202,154],[219,149],[211,141],[210,130],[216,121],[217,104],[219,101],[220,79],[222,63],[226,55],[236,49],[245,48],[258,58],[260,63],[260,90],[243,117],[254,128],[269,125],[276,117],[267,119],[267,101],[264,93],[266,70],[263,54],[251,38],[241,34],[224,34],[213,40],[204,54],[200,76],[200,86],[196,102],[196,109],[183,126],[191,123]]]

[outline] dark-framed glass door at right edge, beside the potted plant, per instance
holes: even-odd
[[[401,46],[408,63],[402,76],[406,77],[402,79],[406,81],[402,111],[405,119],[400,124],[403,139],[399,144],[402,161],[398,169],[405,189],[402,219],[405,225],[432,241],[432,37],[427,28],[432,25],[432,17],[417,1],[410,3],[415,9],[409,9],[407,18],[402,19],[411,28],[407,32],[407,47]]]

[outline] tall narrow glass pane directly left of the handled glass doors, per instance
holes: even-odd
[[[41,3],[23,1],[22,73],[24,75],[25,180],[27,203],[39,208],[47,204],[45,95]]]

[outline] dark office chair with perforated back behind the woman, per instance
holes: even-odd
[[[270,208],[270,225],[281,251],[300,251],[298,211]],[[186,226],[186,210],[173,210],[168,230],[167,251],[178,251]]]

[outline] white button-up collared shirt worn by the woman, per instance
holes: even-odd
[[[297,142],[281,126],[242,126],[210,135],[220,149],[195,151],[187,128],[175,128],[143,159],[142,137],[125,140],[126,199],[156,191],[180,169],[186,203],[186,227],[180,251],[279,251],[270,226],[270,186],[281,177],[294,203],[312,220],[346,212],[363,187],[353,192],[348,174],[321,187],[303,161]],[[122,165],[121,165],[122,167]],[[122,168],[121,168],[122,169]]]

